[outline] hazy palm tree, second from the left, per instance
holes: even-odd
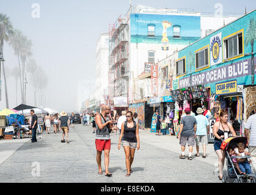
[[[19,71],[20,71],[20,86],[21,86],[21,103],[24,104],[24,93],[23,93],[23,77],[20,65],[20,56],[21,56],[21,47],[23,44],[24,35],[22,34],[21,30],[15,29],[14,34],[11,38],[11,45],[15,52],[15,55],[18,57],[18,64],[19,64]]]

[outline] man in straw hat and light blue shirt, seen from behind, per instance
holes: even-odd
[[[196,122],[197,122],[197,130],[196,130],[196,157],[199,157],[199,146],[202,145],[202,149],[204,154],[203,158],[206,157],[206,146],[208,144],[207,135],[210,134],[210,123],[206,116],[203,115],[204,110],[202,108],[197,108],[196,113]]]

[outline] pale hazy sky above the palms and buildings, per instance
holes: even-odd
[[[32,4],[40,5],[40,18],[32,18]],[[219,1],[169,1],[132,0],[132,5],[148,5],[155,8],[194,9],[199,12],[215,12],[215,4],[223,5],[224,13],[244,13],[256,8],[255,0]],[[96,73],[96,42],[99,35],[108,32],[108,25],[119,15],[126,14],[129,0],[0,0],[0,13],[9,16],[13,27],[20,29],[33,43],[34,59],[48,74],[48,86],[44,97],[48,107],[71,112],[80,102],[93,93]],[[13,49],[4,43],[5,67],[18,65]],[[27,104],[34,105],[34,91],[27,75]],[[4,78],[2,101],[5,108]],[[16,106],[15,79],[7,77],[9,107]],[[20,88],[18,88],[19,92]],[[80,96],[79,96],[80,95]],[[18,93],[18,104],[21,98]],[[37,105],[39,99],[37,94]]]

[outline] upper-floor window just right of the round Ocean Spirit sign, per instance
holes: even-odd
[[[243,34],[236,34],[224,40],[224,59],[243,54]]]

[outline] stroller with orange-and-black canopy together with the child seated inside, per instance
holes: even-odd
[[[240,144],[243,143],[243,144]],[[222,141],[221,149],[225,151],[227,158],[227,174],[230,178],[234,179],[234,183],[243,183],[247,182],[247,179],[251,179],[251,183],[256,182],[256,177],[254,171],[251,169],[251,166],[247,166],[250,161],[247,161],[247,158],[250,158],[244,148],[247,144],[247,138],[245,137],[236,137],[236,138],[227,138]],[[238,151],[237,151],[237,149]],[[236,154],[236,152],[238,154]],[[243,155],[244,153],[244,155]],[[235,159],[236,162],[233,161]],[[246,169],[244,170],[244,164],[246,162]],[[239,163],[241,166],[239,166]],[[243,165],[243,166],[242,166]],[[249,170],[250,168],[250,170]],[[251,172],[250,172],[251,171]],[[246,174],[244,174],[246,173]],[[227,182],[227,177],[222,177],[222,182]]]

